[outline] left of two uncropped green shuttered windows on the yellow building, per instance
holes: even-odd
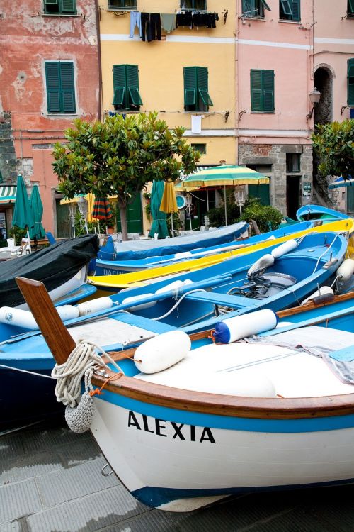
[[[113,65],[113,91],[115,110],[139,111],[142,99],[137,65]]]

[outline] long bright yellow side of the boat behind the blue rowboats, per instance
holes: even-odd
[[[306,229],[305,231],[299,231],[298,233],[290,233],[289,235],[275,238],[273,240],[263,240],[262,242],[258,242],[253,245],[247,245],[247,243],[245,243],[244,246],[235,250],[229,250],[227,252],[217,253],[215,255],[208,255],[207,257],[200,257],[194,260],[175,262],[169,266],[151,267],[147,270],[139,270],[139,272],[120,273],[117,275],[94,275],[88,279],[89,282],[95,284],[96,287],[107,287],[112,289],[123,289],[132,286],[137,287],[144,284],[149,284],[149,281],[157,281],[161,277],[181,275],[186,272],[191,272],[193,270],[199,270],[200,268],[215,265],[218,262],[222,262],[230,257],[246,255],[252,253],[253,251],[268,248],[270,245],[273,246],[281,244],[286,240],[290,240],[290,238],[300,238],[308,233],[323,233],[329,231],[332,231],[333,233],[349,233],[349,235],[352,235],[350,242],[353,243],[354,220],[352,218],[347,218],[345,220],[323,223],[321,226],[312,227]],[[234,244],[237,245],[237,240],[235,240]],[[351,252],[353,253],[353,248],[351,248]],[[348,253],[350,253],[349,247]],[[164,257],[161,257],[161,259],[163,258]]]

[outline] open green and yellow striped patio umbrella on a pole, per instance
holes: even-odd
[[[246,184],[268,184],[269,177],[237,165],[222,165],[205,168],[190,174],[187,179],[178,184],[179,190],[195,190],[201,187],[224,187],[224,204],[225,204],[225,221],[227,224],[227,208],[226,208],[226,187],[236,187]]]

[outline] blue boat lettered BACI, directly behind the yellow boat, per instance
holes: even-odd
[[[239,237],[238,240],[234,242],[225,242],[219,243],[219,245],[211,245],[207,248],[195,247],[188,251],[183,251],[180,253],[171,253],[169,255],[156,255],[152,257],[145,257],[142,259],[132,258],[130,260],[103,260],[103,258],[98,258],[96,260],[96,272],[95,275],[116,275],[120,273],[127,272],[137,272],[139,270],[145,270],[151,267],[160,267],[164,265],[171,265],[174,262],[181,262],[183,260],[192,260],[194,258],[205,257],[207,255],[212,255],[215,253],[223,253],[227,250],[237,249],[242,245],[253,245],[258,242],[263,242],[263,240],[268,240],[270,238],[281,238],[286,235],[292,235],[293,233],[298,233],[300,231],[306,231],[314,226],[313,221],[304,221],[298,222],[295,224],[289,224],[274,231],[268,231],[267,233],[262,233],[261,235],[254,235],[249,238]],[[118,249],[120,244],[118,244]],[[114,248],[112,250],[112,253]],[[110,257],[112,257],[110,253]],[[101,248],[100,256],[103,257],[103,248]]]

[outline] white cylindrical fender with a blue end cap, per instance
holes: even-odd
[[[218,343],[231,343],[253,334],[270,331],[277,326],[278,316],[270,309],[263,309],[243,316],[226,318],[216,324],[212,336]]]

